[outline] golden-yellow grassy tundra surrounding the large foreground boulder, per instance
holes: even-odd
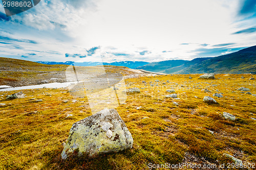
[[[199,76],[126,79],[126,88],[141,88],[140,93],[127,94],[125,104],[116,108],[133,136],[133,148],[90,159],[74,154],[66,161],[60,157],[62,143],[73,123],[91,115],[87,98],[72,96],[66,88],[23,90],[26,98],[15,100],[5,100],[6,95],[18,91],[0,92],[0,103],[6,104],[0,106],[0,169],[149,169],[150,163],[232,163],[224,153],[243,163],[256,163],[256,120],[252,119],[256,96],[237,91],[247,87],[256,94],[256,81],[248,80],[248,74],[219,74],[211,80]],[[211,92],[204,92],[205,88]],[[175,89],[179,99],[165,98],[167,89]],[[212,97],[217,89],[224,98]],[[206,95],[218,103],[204,103]],[[223,112],[237,119],[225,119]]]

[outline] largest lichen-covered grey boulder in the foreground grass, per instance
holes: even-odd
[[[61,157],[66,159],[76,149],[78,155],[84,153],[92,157],[132,147],[133,137],[118,112],[104,109],[72,125]]]

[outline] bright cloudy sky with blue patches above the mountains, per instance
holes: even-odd
[[[41,0],[11,17],[0,6],[0,57],[154,62],[253,45],[255,0]]]

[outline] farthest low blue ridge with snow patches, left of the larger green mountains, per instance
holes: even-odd
[[[136,68],[139,66],[143,66],[148,64],[149,62],[144,61],[120,61],[120,62],[112,62],[112,63],[106,63],[106,62],[74,62],[74,61],[66,61],[66,62],[48,62],[48,61],[37,61],[37,63],[41,64],[49,64],[49,65],[55,65],[55,64],[65,64],[65,65],[71,65],[74,64],[75,66],[97,66],[97,65],[115,65],[115,66],[124,66],[129,68]]]

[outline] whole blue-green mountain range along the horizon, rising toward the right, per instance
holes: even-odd
[[[43,62],[42,64],[74,64],[76,66],[95,66],[102,65],[101,62]],[[256,73],[256,45],[244,48],[238,52],[218,56],[202,57],[188,60],[167,60],[160,62],[144,61],[121,61],[103,63],[103,65],[125,66],[133,69],[143,69],[147,71],[162,72],[165,74],[242,74]]]

